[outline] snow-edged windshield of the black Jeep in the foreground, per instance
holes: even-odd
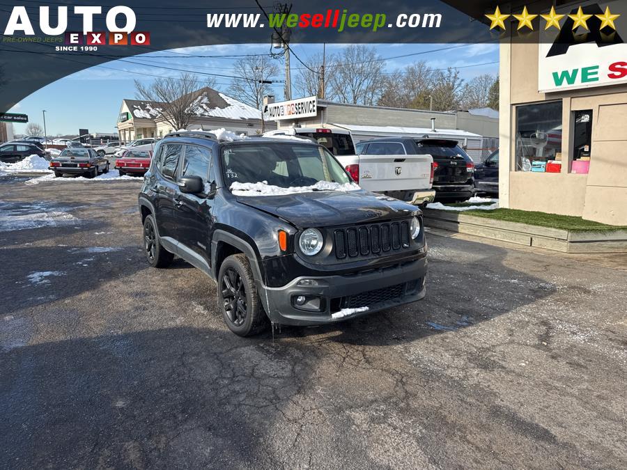
[[[222,170],[226,187],[243,196],[359,189],[329,152],[311,143],[227,145]]]

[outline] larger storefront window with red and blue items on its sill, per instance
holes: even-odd
[[[516,171],[544,173],[561,161],[562,101],[516,107]]]

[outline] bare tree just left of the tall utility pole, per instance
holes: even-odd
[[[272,95],[272,77],[278,74],[276,63],[264,56],[242,58],[235,62],[235,73],[242,78],[233,79],[228,93],[251,107],[261,110],[264,95]]]

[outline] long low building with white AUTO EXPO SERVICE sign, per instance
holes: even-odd
[[[454,139],[475,161],[498,148],[498,111],[488,108],[425,111],[336,103],[310,96],[276,103],[270,98],[264,111],[267,120],[277,121],[277,129],[333,125],[349,130],[355,143],[384,136]]]

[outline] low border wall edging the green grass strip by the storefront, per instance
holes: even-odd
[[[627,230],[571,232],[433,209],[424,210],[424,223],[428,227],[563,253],[627,253]]]

